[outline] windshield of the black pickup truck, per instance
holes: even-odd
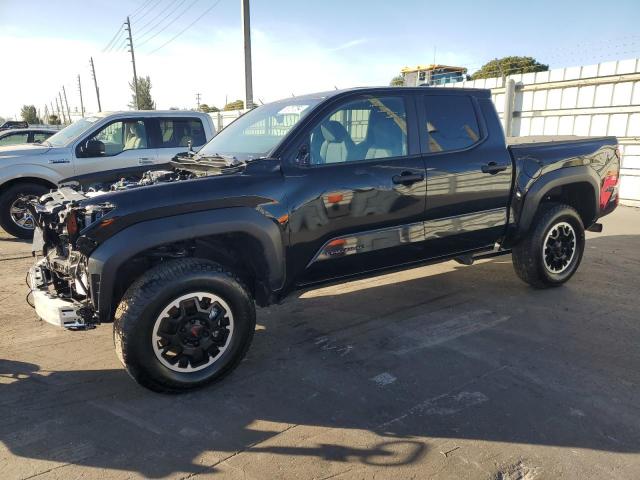
[[[262,105],[234,121],[207,143],[199,155],[265,157],[322,98],[292,98]]]

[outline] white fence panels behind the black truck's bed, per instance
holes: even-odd
[[[640,206],[640,59],[446,86],[491,89],[507,135],[615,135],[621,202]]]

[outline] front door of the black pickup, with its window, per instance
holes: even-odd
[[[285,172],[288,271],[306,285],[422,258],[426,182],[415,106],[404,95],[343,99]]]

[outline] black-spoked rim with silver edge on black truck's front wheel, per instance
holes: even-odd
[[[174,372],[197,372],[222,356],[233,329],[233,313],[222,298],[209,292],[189,293],[158,315],[151,336],[153,351]]]

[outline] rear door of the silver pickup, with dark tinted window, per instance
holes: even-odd
[[[189,148],[198,151],[207,138],[202,120],[197,117],[156,117],[150,119],[149,135],[157,147],[157,163],[166,164]]]

